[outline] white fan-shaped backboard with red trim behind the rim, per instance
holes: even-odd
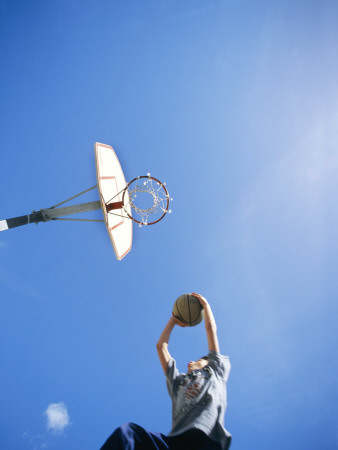
[[[97,188],[100,194],[104,220],[116,258],[121,260],[131,249],[133,222],[125,217],[126,214],[122,209],[115,209],[107,213],[106,204],[122,201],[122,191],[127,183],[116,153],[109,145],[95,143],[95,162]],[[125,196],[128,197],[128,191]],[[126,212],[131,216],[128,198],[125,203]]]

